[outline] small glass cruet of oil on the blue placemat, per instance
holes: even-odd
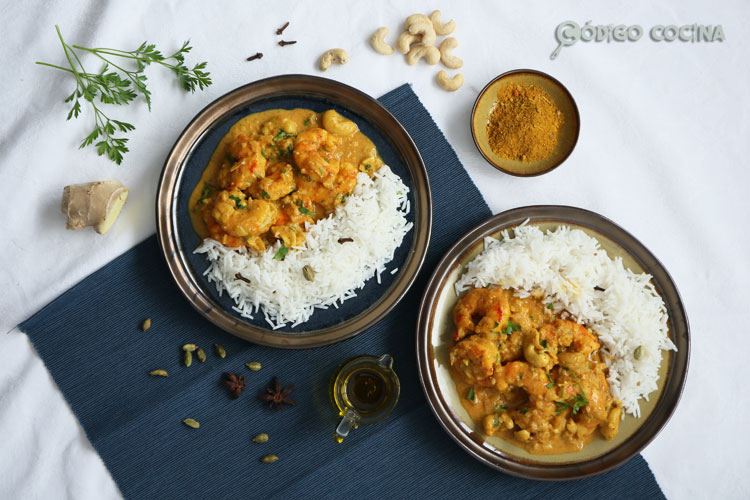
[[[331,400],[341,417],[334,440],[340,443],[360,424],[386,418],[396,407],[400,392],[390,354],[358,356],[344,363],[331,384]]]

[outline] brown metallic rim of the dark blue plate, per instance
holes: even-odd
[[[252,325],[228,313],[198,284],[185,257],[177,230],[177,193],[186,159],[204,133],[240,106],[288,95],[329,100],[352,109],[379,128],[403,156],[413,181],[414,236],[399,275],[391,286],[363,312],[330,327],[301,333],[284,333]],[[355,105],[356,104],[356,105]],[[432,193],[427,168],[414,140],[401,122],[379,101],[344,83],[304,74],[263,78],[233,89],[199,111],[183,129],[164,161],[156,194],[157,240],[169,273],[190,305],[216,326],[255,344],[286,349],[305,349],[341,342],[369,329],[383,319],[404,297],[419,274],[432,233]]]

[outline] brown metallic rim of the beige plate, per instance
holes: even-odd
[[[628,252],[645,272],[652,274],[654,281],[657,281],[654,271],[658,271],[658,283],[663,289],[662,298],[668,310],[674,308],[675,317],[670,315],[669,322],[672,340],[679,350],[677,353],[670,351],[673,357],[665,375],[664,389],[653,411],[627,441],[602,455],[579,462],[531,462],[500,450],[488,449],[482,445],[481,435],[466,430],[466,425],[450,409],[437,383],[434,350],[429,339],[435,302],[446,284],[446,277],[461,265],[464,255],[475,248],[475,245],[481,244],[486,236],[505,228],[516,227],[526,220],[535,223],[575,224],[611,239]],[[599,227],[592,227],[592,224]],[[634,255],[634,251],[638,251],[639,255]],[[690,325],[687,313],[679,291],[666,268],[640,241],[610,219],[589,210],[562,205],[532,205],[511,209],[488,218],[462,236],[441,259],[428,281],[418,310],[415,337],[417,368],[422,390],[430,409],[448,435],[469,455],[489,467],[513,476],[546,481],[581,479],[601,474],[622,465],[643,450],[674,414],[685,387],[690,361]]]

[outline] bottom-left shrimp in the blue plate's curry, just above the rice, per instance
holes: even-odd
[[[211,215],[227,234],[246,238],[268,231],[278,214],[267,201],[246,199],[242,191],[221,191]]]

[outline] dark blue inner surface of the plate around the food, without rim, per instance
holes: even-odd
[[[284,97],[269,97],[239,107],[224,116],[221,120],[212,124],[200,140],[196,142],[187,156],[183,174],[177,186],[177,214],[175,219],[179,251],[185,255],[196,283],[198,283],[206,295],[211,297],[213,301],[218,304],[218,307],[226,310],[229,314],[241,321],[266,329],[270,329],[271,327],[266,322],[262,310],[255,314],[253,319],[243,318],[233,309],[234,301],[227,297],[226,294],[219,297],[215,284],[209,283],[208,279],[203,275],[203,272],[208,267],[208,261],[205,259],[205,256],[193,253],[193,251],[201,244],[201,239],[193,230],[193,224],[190,221],[188,202],[193,189],[200,181],[203,170],[211,159],[211,155],[232,125],[237,123],[241,118],[252,113],[269,109],[294,108],[311,109],[316,112],[335,109],[346,118],[353,120],[359,126],[359,129],[375,144],[375,147],[378,148],[378,153],[381,158],[383,158],[383,161],[385,161],[395,174],[401,177],[404,184],[409,188],[408,196],[411,211],[407,215],[407,220],[414,223],[415,202],[413,194],[413,179],[409,170],[406,168],[403,158],[398,154],[390,139],[388,139],[388,135],[385,131],[377,127],[375,124],[368,122],[362,116],[348,109],[342,108],[334,102],[309,95],[295,97],[290,97],[288,95],[285,95]],[[345,301],[343,304],[339,305],[338,309],[334,307],[329,309],[317,309],[307,322],[294,328],[287,326],[276,331],[304,333],[321,330],[347,321],[365,312],[372,304],[376,303],[386,294],[390,286],[399,276],[400,272],[391,274],[390,271],[395,268],[403,268],[413,243],[414,229],[412,228],[412,230],[404,237],[401,246],[396,250],[393,260],[386,266],[386,271],[381,274],[379,284],[377,279],[373,277],[367,281],[364,288],[357,290],[357,297]]]

